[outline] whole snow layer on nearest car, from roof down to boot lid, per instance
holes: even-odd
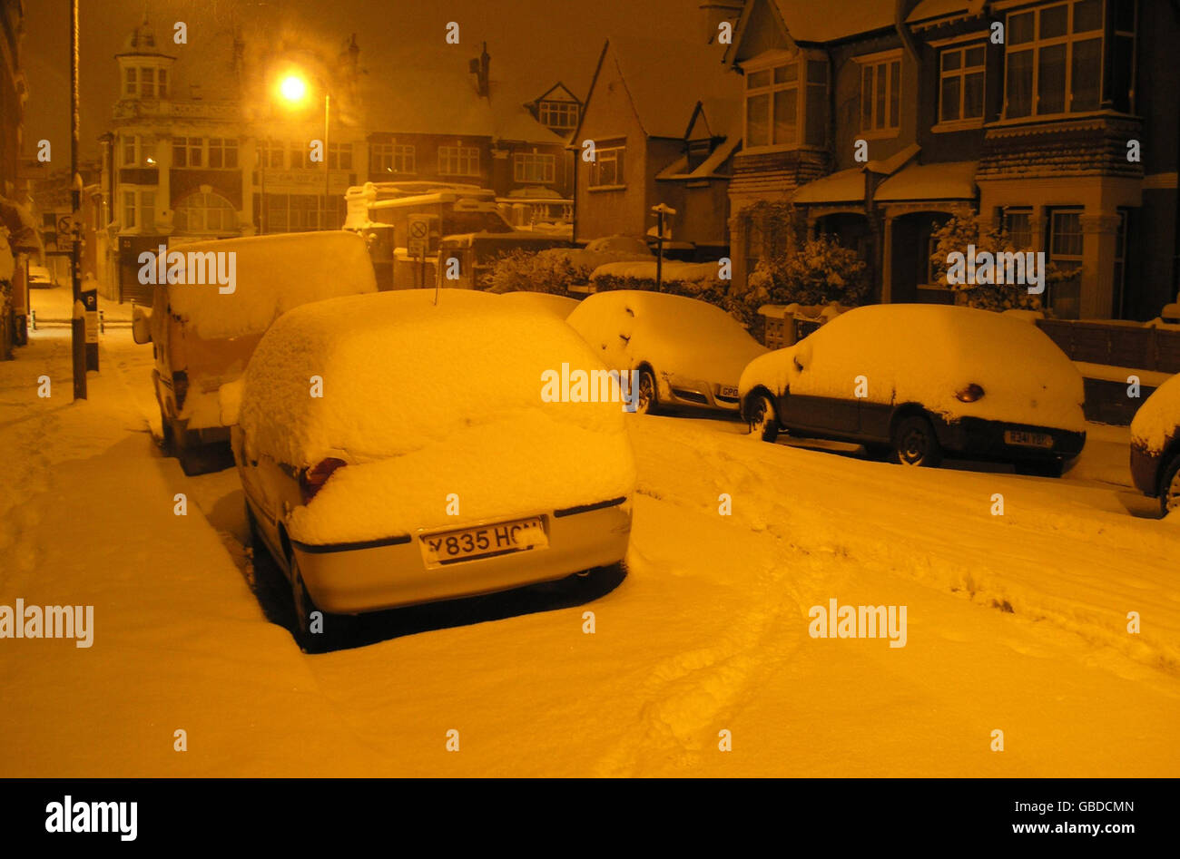
[[[291,536],[363,540],[630,494],[620,402],[545,402],[545,371],[602,369],[563,322],[498,295],[402,290],[332,299],[282,316],[244,376],[251,458],[349,463]],[[323,396],[309,380],[323,380]]]

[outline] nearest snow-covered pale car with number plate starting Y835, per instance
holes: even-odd
[[[234,458],[251,529],[290,579],[301,643],[316,608],[507,590],[627,552],[623,406],[544,395],[546,374],[605,373],[598,359],[564,322],[502,296],[434,300],[304,304],[250,359]]]

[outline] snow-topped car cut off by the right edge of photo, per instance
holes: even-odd
[[[1130,421],[1130,476],[1160,499],[1167,516],[1180,507],[1180,375],[1155,389]]]

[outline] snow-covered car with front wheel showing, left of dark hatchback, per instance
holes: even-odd
[[[667,293],[596,293],[566,322],[608,367],[638,374],[640,412],[736,412],[738,378],[766,353],[721,308]]]

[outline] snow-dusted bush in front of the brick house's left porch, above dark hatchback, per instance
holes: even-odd
[[[808,238],[786,254],[759,260],[749,275],[760,303],[856,307],[868,296],[868,267],[834,236]]]

